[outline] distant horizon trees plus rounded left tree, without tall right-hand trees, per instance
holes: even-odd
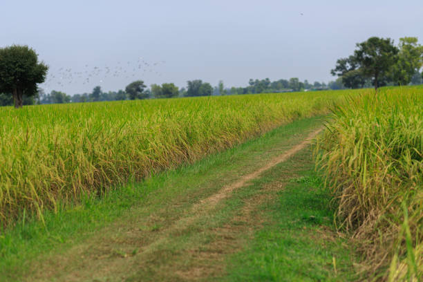
[[[21,66],[26,66],[21,68]],[[19,108],[30,104],[62,104],[69,102],[100,102],[115,100],[138,100],[151,98],[197,97],[209,95],[239,95],[247,93],[287,92],[303,90],[339,89],[344,86],[337,82],[326,85],[323,82],[300,82],[298,78],[279,79],[250,79],[246,87],[225,88],[223,81],[213,87],[208,82],[194,79],[187,82],[187,87],[178,88],[173,83],[161,85],[152,84],[147,88],[142,80],[131,82],[124,90],[102,91],[95,86],[91,93],[67,95],[62,91],[53,90],[45,93],[37,88],[37,84],[44,82],[48,68],[37,61],[37,54],[28,46],[10,46],[0,49],[0,106],[15,104]]]

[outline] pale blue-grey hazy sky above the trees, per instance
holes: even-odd
[[[422,0],[0,0],[0,47],[24,44],[49,66],[46,92],[118,91],[203,79],[328,82],[368,37],[419,37]]]

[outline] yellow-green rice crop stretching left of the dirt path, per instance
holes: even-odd
[[[193,162],[276,126],[328,113],[345,92],[0,109],[0,222]]]

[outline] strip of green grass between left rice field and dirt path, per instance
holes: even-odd
[[[254,171],[274,157],[275,149],[290,148],[319,124],[321,118],[293,122],[194,164],[158,173],[138,184],[107,190],[101,197],[85,197],[73,207],[58,208],[56,213],[44,211],[44,222],[26,216],[0,236],[0,278],[15,281],[29,276],[35,261],[48,264],[50,255],[64,254],[74,245],[97,236],[114,236],[116,230],[132,226],[134,221],[138,229],[150,230],[151,238],[160,236],[160,229],[187,213],[200,198]],[[160,220],[149,222],[151,215]],[[135,250],[134,247],[131,252],[136,253]],[[118,253],[120,250],[115,250]]]

